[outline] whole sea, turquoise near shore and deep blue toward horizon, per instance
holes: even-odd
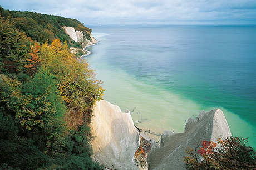
[[[234,136],[256,147],[256,26],[91,26],[85,59],[104,99],[132,110],[140,128],[183,132],[200,110],[220,108]]]

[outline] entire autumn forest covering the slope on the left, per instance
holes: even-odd
[[[0,6],[0,169],[101,169],[88,123],[102,81],[70,53],[75,19]]]

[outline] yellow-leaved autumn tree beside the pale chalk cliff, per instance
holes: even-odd
[[[58,89],[68,106],[65,118],[70,126],[77,128],[83,121],[90,121],[91,109],[104,92],[94,70],[86,61],[76,60],[67,44],[62,45],[58,39],[51,45],[42,44],[38,57],[58,81]]]

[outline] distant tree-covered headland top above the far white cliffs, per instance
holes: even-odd
[[[79,43],[73,42],[66,34],[63,26],[74,27],[75,30],[87,32],[92,30],[85,27],[76,19],[64,18],[60,16],[52,16],[28,11],[9,11],[0,6],[0,15],[4,19],[9,18],[14,22],[14,27],[25,32],[32,40],[36,40],[40,44],[51,44],[52,40],[60,39],[62,43],[67,42],[69,47],[80,47]],[[72,41],[72,42],[71,42]]]

